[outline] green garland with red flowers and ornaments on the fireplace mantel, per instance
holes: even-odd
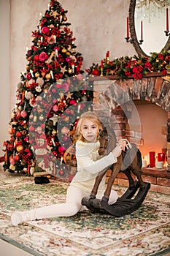
[[[141,79],[151,72],[161,72],[161,75],[170,75],[170,46],[169,50],[161,53],[151,53],[150,56],[123,56],[113,61],[107,58],[101,64],[92,64],[86,69],[91,76],[110,76],[116,75],[121,80],[134,78]]]

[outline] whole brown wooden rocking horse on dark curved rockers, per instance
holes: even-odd
[[[108,154],[108,151],[111,151],[116,145],[115,133],[112,132],[109,136],[106,129],[103,129],[100,134],[100,150],[104,154]],[[108,149],[106,151],[106,149]],[[134,159],[131,159],[131,152],[135,152]],[[124,170],[121,170],[123,167],[123,160],[125,159]],[[96,198],[98,186],[101,182],[101,179],[104,176],[104,173],[99,175],[96,178],[96,182],[91,191],[91,195],[88,197],[82,198],[82,206],[86,206],[91,211],[101,212],[104,214],[111,214],[115,217],[122,217],[126,214],[131,214],[133,211],[136,211],[143,203],[144,198],[147,196],[147,192],[150,189],[150,183],[144,182],[142,180],[142,155],[138,148],[135,145],[132,145],[128,148],[126,152],[120,155],[117,158],[117,163],[111,167],[111,176],[107,184],[107,189],[104,192],[102,199]],[[109,195],[112,189],[112,184],[115,181],[115,178],[119,172],[123,171],[128,177],[129,187],[126,189],[125,193],[117,199],[117,202],[109,205]],[[138,181],[134,181],[131,176],[131,171],[136,175]],[[134,198],[133,198],[134,197]]]

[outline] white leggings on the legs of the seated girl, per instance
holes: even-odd
[[[87,197],[89,193],[83,192],[81,189],[72,185],[67,189],[66,203],[54,204],[51,206],[44,206],[41,208],[35,208],[28,211],[31,219],[43,219],[51,217],[69,217],[77,214],[78,211],[87,210],[85,206],[82,206],[82,197]],[[101,199],[103,193],[98,193],[97,198]],[[111,191],[109,196],[109,204],[117,201],[117,192]]]

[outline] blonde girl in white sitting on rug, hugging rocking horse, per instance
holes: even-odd
[[[121,151],[125,150],[124,141],[120,143],[105,157],[98,154],[99,141],[98,135],[101,129],[101,122],[93,112],[83,113],[77,124],[77,173],[69,184],[66,194],[66,203],[54,204],[52,206],[44,206],[42,208],[34,208],[30,211],[15,211],[12,214],[12,225],[18,225],[20,222],[28,220],[50,218],[50,217],[69,217],[77,214],[78,211],[87,210],[82,206],[82,197],[90,195],[96,176],[102,170],[113,163],[117,162],[117,157]],[[96,197],[101,199],[105,190],[105,178],[101,181]],[[117,192],[112,190],[109,197],[109,204],[117,201]]]

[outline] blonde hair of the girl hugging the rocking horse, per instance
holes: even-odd
[[[90,121],[93,121],[98,126],[98,129],[102,128],[101,121],[98,119],[98,116],[96,116],[95,113],[93,113],[92,111],[82,113],[76,128],[77,140],[85,141],[85,138],[82,136],[82,133],[80,132],[82,127],[82,121],[85,120],[85,118],[89,119]]]

